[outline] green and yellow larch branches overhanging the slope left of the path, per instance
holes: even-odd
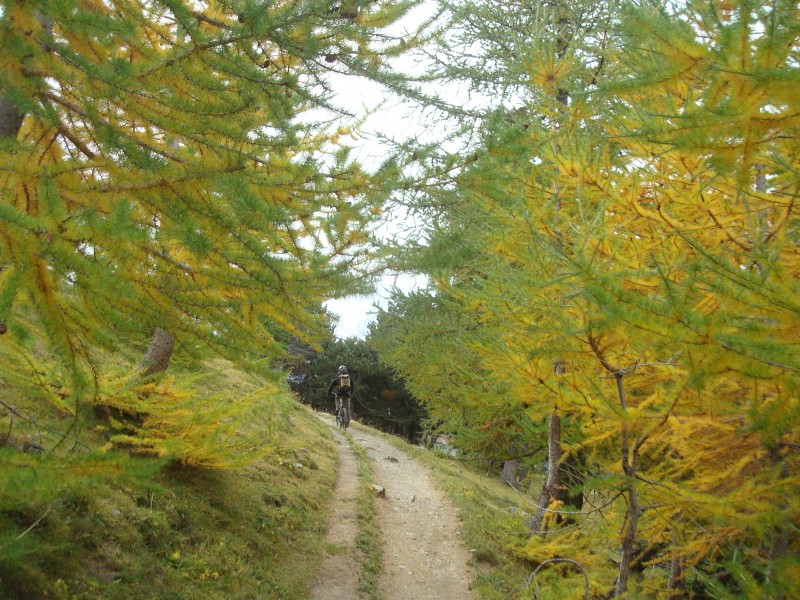
[[[310,111],[333,72],[389,73],[414,39],[381,30],[413,4],[4,4],[3,343],[44,332],[77,399],[94,345],[155,332],[152,372],[176,340],[264,356],[324,330],[391,173]]]

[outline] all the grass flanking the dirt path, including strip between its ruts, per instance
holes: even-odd
[[[260,384],[229,363],[210,365],[196,383],[232,398]],[[305,597],[326,550],[336,450],[326,426],[296,402],[272,399],[261,412],[247,426],[272,432],[264,440],[269,449],[244,468],[139,459],[126,469],[138,477],[101,473],[43,495],[17,492],[16,501],[0,490],[0,598]],[[15,425],[15,434],[21,431]],[[91,439],[91,432],[82,436]],[[530,597],[529,569],[508,546],[525,538],[517,514],[529,508],[524,500],[468,463],[386,437],[427,464],[458,508],[478,597]],[[0,468],[14,469],[14,457],[24,455],[21,437],[17,442],[0,448]],[[359,463],[358,543],[366,558],[359,592],[373,598],[381,557],[369,465],[363,456]]]

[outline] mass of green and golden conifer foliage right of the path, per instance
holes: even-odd
[[[560,416],[582,505],[537,507],[522,556],[595,596],[794,597],[796,3],[512,4],[462,11],[522,107],[425,198],[434,283],[383,319],[384,356],[464,443],[540,449]]]

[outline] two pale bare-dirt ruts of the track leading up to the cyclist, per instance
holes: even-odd
[[[333,426],[332,418],[323,419]],[[470,591],[472,570],[468,565],[470,554],[459,536],[460,524],[456,511],[445,496],[435,489],[425,467],[412,460],[381,437],[369,433],[359,425],[351,426],[349,433],[355,443],[363,447],[374,471],[375,483],[386,490],[385,497],[376,497],[376,511],[381,528],[383,571],[379,580],[381,597],[385,600],[462,600],[473,598]],[[337,442],[341,437],[334,431]],[[352,450],[338,444],[340,460]],[[344,461],[346,464],[346,461]],[[354,467],[355,468],[355,467]],[[342,475],[345,475],[342,472]],[[344,479],[347,479],[345,477]],[[337,475],[333,528],[338,527],[336,511],[346,492],[339,485]],[[356,476],[357,485],[357,476]],[[355,511],[353,499],[352,511]],[[352,535],[357,524],[351,520]],[[336,541],[336,540],[339,541]],[[342,538],[329,543],[343,545]],[[341,568],[342,554],[328,555],[320,571],[322,585],[315,587],[314,600],[329,598],[357,598],[357,583],[353,587],[333,590],[336,580],[325,580],[328,562]],[[358,578],[358,560],[352,565],[354,579]],[[326,588],[320,590],[319,588]],[[319,590],[319,592],[318,592]],[[338,594],[338,595],[335,595]]]

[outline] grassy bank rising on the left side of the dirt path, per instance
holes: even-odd
[[[254,384],[230,368],[213,377],[211,387]],[[33,494],[14,503],[6,494],[0,597],[304,597],[323,551],[336,451],[306,408],[281,404],[277,420],[274,404],[264,406],[275,435],[244,468],[141,459],[128,470],[149,477],[101,474],[40,502]],[[258,428],[258,419],[249,426]],[[0,468],[14,468],[14,453],[2,450]]]

